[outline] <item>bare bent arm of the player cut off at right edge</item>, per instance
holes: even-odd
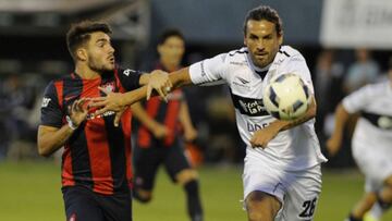
[[[342,146],[342,138],[344,126],[350,119],[351,114],[346,111],[344,106],[339,103],[335,110],[335,124],[332,136],[327,140],[327,149],[331,156],[336,155]]]

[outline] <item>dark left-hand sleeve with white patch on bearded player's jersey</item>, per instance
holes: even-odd
[[[53,127],[62,126],[63,112],[59,105],[58,94],[53,82],[51,82],[45,89],[40,111],[41,125]]]

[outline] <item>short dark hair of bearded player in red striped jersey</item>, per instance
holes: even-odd
[[[82,21],[71,25],[66,33],[66,47],[74,60],[76,49],[89,40],[90,34],[96,32],[112,33],[110,26],[103,22]]]

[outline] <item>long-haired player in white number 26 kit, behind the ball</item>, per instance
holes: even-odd
[[[279,121],[266,111],[262,90],[271,77],[295,73],[313,91],[304,57],[281,46],[283,30],[275,10],[250,10],[244,23],[245,47],[206,59],[169,75],[174,87],[223,83],[229,85],[237,127],[246,143],[243,174],[244,206],[252,221],[313,220],[321,191],[320,152],[314,130],[316,102],[296,121]],[[105,110],[144,98],[146,88],[108,94],[96,99]],[[98,112],[99,113],[99,112]]]

